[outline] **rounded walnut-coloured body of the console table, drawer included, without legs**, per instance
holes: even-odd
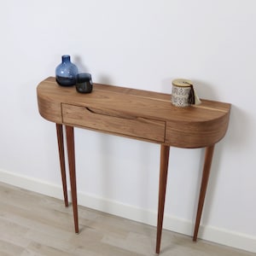
[[[200,105],[178,108],[172,105],[170,94],[108,84],[93,84],[91,93],[81,94],[74,86],[56,84],[54,77],[38,84],[37,93],[39,113],[49,121],[180,148],[217,143],[227,131],[231,108],[230,103],[203,99]],[[83,119],[83,113],[87,118],[76,122]],[[93,119],[99,117],[93,125]],[[117,126],[124,120],[122,129],[127,126],[129,131],[122,134]],[[114,129],[110,127],[113,124]],[[148,133],[145,137],[143,131],[138,131],[140,127]]]

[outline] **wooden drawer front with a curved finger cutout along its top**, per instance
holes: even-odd
[[[105,111],[62,104],[62,119],[67,125],[105,131],[125,137],[137,137],[163,143],[166,122],[155,119],[128,116],[118,111]]]

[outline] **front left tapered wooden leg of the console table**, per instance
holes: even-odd
[[[74,150],[74,136],[73,126],[66,125],[67,136],[67,155],[70,176],[70,187],[73,203],[73,220],[75,232],[79,233],[79,214],[78,214],[78,201],[77,201],[77,182],[76,182],[76,166],[75,166],[75,150]]]

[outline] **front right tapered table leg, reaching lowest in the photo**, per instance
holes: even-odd
[[[155,253],[160,253],[160,242],[163,228],[163,218],[166,201],[166,182],[168,173],[170,147],[161,145],[160,149],[160,178],[159,178],[159,201],[158,201],[158,220]]]

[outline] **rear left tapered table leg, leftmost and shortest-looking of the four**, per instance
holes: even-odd
[[[56,124],[57,139],[59,146],[59,156],[61,164],[61,179],[62,179],[62,189],[64,195],[65,207],[68,207],[67,200],[67,177],[66,177],[66,167],[65,167],[65,154],[64,154],[64,143],[63,143],[63,129],[62,125]]]

